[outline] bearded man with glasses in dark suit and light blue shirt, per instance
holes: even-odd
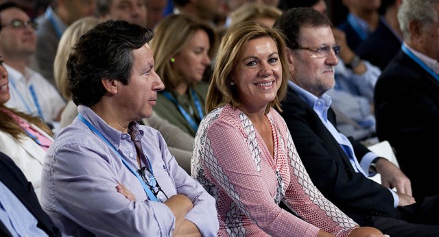
[[[335,84],[338,47],[329,19],[312,8],[293,8],[274,27],[287,38],[292,73],[281,116],[313,183],[359,225],[390,236],[438,236],[439,197],[416,203],[410,179],[396,165],[335,128],[327,90]],[[383,185],[368,179],[376,173]]]

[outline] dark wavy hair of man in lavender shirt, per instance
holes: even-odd
[[[105,21],[86,34],[72,48],[67,60],[69,90],[76,105],[91,106],[105,94],[102,79],[128,84],[134,49],[154,37],[152,29],[126,21]]]

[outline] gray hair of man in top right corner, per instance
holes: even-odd
[[[403,0],[398,10],[398,21],[404,39],[409,39],[410,22],[418,21],[422,27],[438,21],[436,10],[439,0]]]

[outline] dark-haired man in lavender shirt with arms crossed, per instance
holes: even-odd
[[[77,42],[67,62],[75,121],[43,164],[43,209],[71,236],[216,236],[215,200],[169,153],[152,127],[163,83],[151,29],[106,21]]]

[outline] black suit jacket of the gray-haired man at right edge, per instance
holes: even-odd
[[[439,82],[403,51],[395,56],[375,86],[379,140],[394,147],[414,197],[439,194]]]

